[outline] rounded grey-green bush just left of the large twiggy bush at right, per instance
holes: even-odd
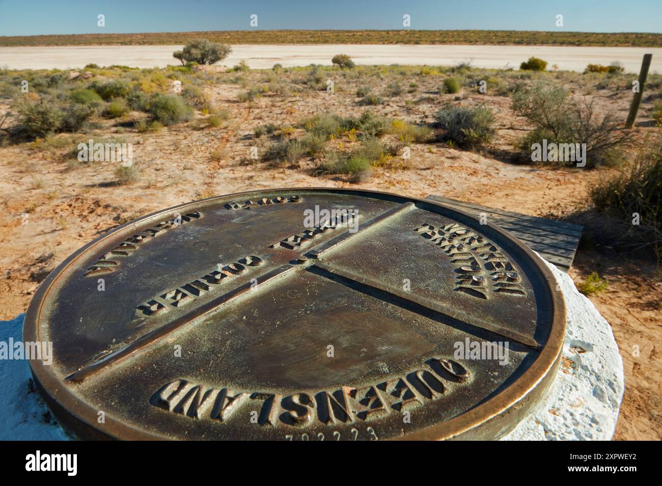
[[[444,130],[442,140],[450,140],[460,147],[477,148],[492,140],[495,117],[485,106],[464,108],[447,104],[436,112],[435,118]]]

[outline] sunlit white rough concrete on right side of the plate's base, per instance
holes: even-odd
[[[611,440],[624,391],[612,328],[569,275],[547,265],[567,309],[561,370],[531,415],[502,440]]]

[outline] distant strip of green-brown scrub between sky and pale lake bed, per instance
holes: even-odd
[[[224,44],[488,44],[662,47],[662,34],[530,30],[213,30],[144,34],[0,36],[0,46],[186,44],[207,38]]]

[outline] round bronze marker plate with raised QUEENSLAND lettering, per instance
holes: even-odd
[[[498,438],[555,376],[544,262],[420,200],[289,188],[175,206],[60,264],[24,341],[81,438]]]

